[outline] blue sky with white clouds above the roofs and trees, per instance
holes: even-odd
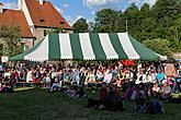
[[[0,0],[4,8],[16,8],[18,0]],[[140,7],[144,2],[154,4],[156,0],[49,0],[63,16],[72,24],[80,17],[88,21],[94,20],[94,13],[104,8],[125,10],[129,3],[135,2]]]

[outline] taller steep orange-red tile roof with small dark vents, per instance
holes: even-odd
[[[38,0],[25,0],[31,17],[37,27],[59,27],[72,29],[54,5],[46,1],[43,4]],[[64,23],[64,24],[60,24]]]

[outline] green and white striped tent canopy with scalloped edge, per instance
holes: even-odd
[[[49,34],[34,47],[10,58],[14,60],[112,60],[140,59],[160,60],[160,56],[151,51],[127,33],[81,33]]]

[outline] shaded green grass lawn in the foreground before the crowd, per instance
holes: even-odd
[[[0,120],[181,120],[181,105],[163,103],[163,115],[136,113],[134,103],[128,101],[124,103],[124,112],[95,110],[86,105],[87,99],[70,99],[61,93],[19,89],[0,94]]]

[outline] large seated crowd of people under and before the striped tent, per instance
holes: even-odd
[[[120,106],[117,109],[123,110],[123,100],[134,100],[138,111],[149,112],[152,106],[163,112],[159,99],[169,101],[173,93],[181,93],[181,63],[125,65],[116,61],[0,65],[1,93],[13,92],[14,87],[24,85],[45,87],[47,92],[61,91],[67,86],[65,94],[71,98],[89,97],[86,89],[95,86],[100,89],[100,98],[88,98],[88,107],[112,109],[114,103]]]

